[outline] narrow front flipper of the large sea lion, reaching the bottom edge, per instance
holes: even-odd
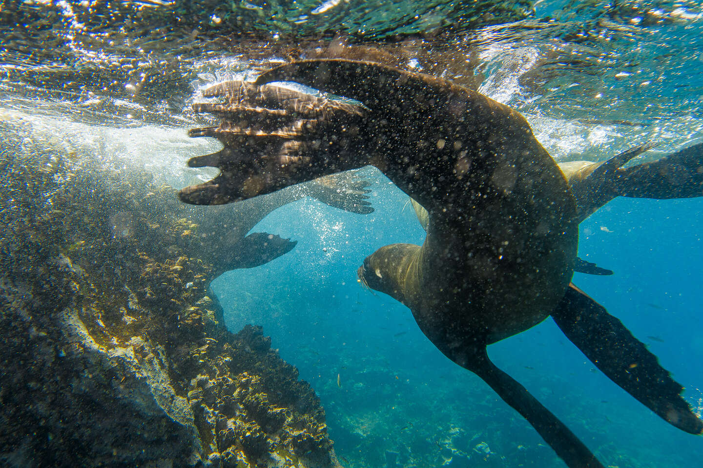
[[[566,424],[527,392],[520,382],[491,362],[485,347],[477,349],[469,361],[464,367],[481,377],[505,403],[515,408],[532,424],[569,468],[603,468],[591,450],[588,450]]]

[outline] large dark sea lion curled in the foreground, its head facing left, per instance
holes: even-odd
[[[344,109],[267,84],[288,80],[361,105]],[[445,79],[341,59],[218,86],[221,126],[196,133],[225,142],[226,154],[203,160],[221,174],[181,199],[236,201],[373,164],[427,208],[430,222],[423,246],[380,248],[360,280],[407,305],[434,345],[488,383],[569,467],[602,464],[486,353],[550,315],[620,387],[676,427],[703,431],[657,358],[571,283],[581,208],[515,110]],[[285,99],[272,103],[276,95]],[[250,131],[236,125],[252,118]],[[229,131],[236,142],[227,146]]]

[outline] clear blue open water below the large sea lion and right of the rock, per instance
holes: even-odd
[[[356,282],[356,268],[376,248],[424,237],[407,197],[366,171],[376,180],[371,215],[304,199],[254,228],[298,243],[268,265],[213,283],[227,326],[264,326],[321,396],[337,453],[350,466],[384,466],[386,452],[398,466],[563,466],[520,415],[434,348],[406,307]],[[659,356],[698,410],[702,221],[701,199],[615,199],[581,224],[579,246],[582,258],[615,274],[574,276]],[[489,354],[606,464],[699,463],[699,437],[671,427],[595,370],[551,319],[492,345]],[[479,453],[479,443],[491,453]]]

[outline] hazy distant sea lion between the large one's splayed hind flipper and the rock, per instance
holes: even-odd
[[[356,171],[327,175],[304,184],[286,187],[255,199],[247,199],[229,206],[210,207],[209,222],[226,226],[226,242],[231,246],[231,260],[227,269],[252,268],[264,265],[280,255],[290,252],[297,241],[283,239],[268,232],[250,230],[269,213],[293,201],[311,196],[318,201],[348,211],[349,213],[373,213],[367,201],[370,185],[356,175]],[[214,218],[214,219],[213,219]]]

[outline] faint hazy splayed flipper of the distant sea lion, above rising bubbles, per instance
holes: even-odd
[[[373,206],[366,201],[371,191],[368,180],[363,180],[354,171],[325,175],[307,186],[307,194],[334,208],[359,215],[373,213]]]

